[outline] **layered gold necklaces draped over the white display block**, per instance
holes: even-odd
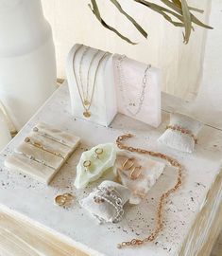
[[[74,54],[74,58],[73,58],[73,63],[75,63],[75,58],[76,58],[76,56],[77,56],[77,52],[79,51],[79,49],[82,47],[83,45],[81,45],[81,46],[79,46],[78,48],[77,48],[77,50],[76,50],[76,52],[75,52],[75,54]],[[88,48],[87,48],[88,49]],[[87,51],[87,49],[85,50],[85,51]],[[99,50],[97,50],[97,52],[94,54],[94,57],[93,57],[93,59],[92,59],[92,61],[91,61],[91,64],[90,64],[90,67],[89,67],[89,70],[88,70],[88,75],[87,75],[87,83],[89,84],[89,74],[90,74],[90,70],[91,70],[91,67],[92,67],[92,64],[94,63],[94,59],[95,59],[95,57],[97,56],[97,54],[99,53],[100,51]],[[84,54],[84,53],[83,53]],[[80,100],[81,100],[81,103],[82,103],[82,106],[83,106],[83,108],[84,108],[84,111],[83,111],[83,116],[85,117],[85,118],[90,118],[91,117],[91,112],[90,112],[90,108],[91,108],[91,105],[92,105],[92,101],[93,101],[93,98],[94,98],[94,87],[95,87],[95,83],[96,83],[96,77],[97,77],[97,73],[98,73],[98,69],[99,69],[99,66],[100,66],[100,64],[102,63],[102,61],[104,60],[104,58],[106,57],[106,55],[107,55],[107,52],[105,52],[103,55],[102,55],[102,57],[100,58],[100,60],[99,60],[99,62],[98,62],[98,64],[97,64],[97,67],[96,67],[96,70],[95,70],[95,73],[94,73],[94,83],[93,83],[93,89],[92,89],[92,94],[91,94],[91,98],[90,98],[90,100],[88,101],[88,99],[84,99],[84,95],[82,95],[82,93],[81,93],[81,90],[80,90],[80,86],[79,86],[79,84],[78,84],[78,81],[77,81],[77,74],[76,74],[76,71],[75,71],[75,65],[74,65],[74,76],[75,76],[75,79],[76,79],[76,82],[77,82],[77,91],[78,91],[78,95],[79,95],[79,97],[80,97]],[[83,58],[81,58],[81,62],[82,62],[82,59]],[[81,65],[81,64],[80,64]],[[79,68],[79,70],[80,70],[80,68]],[[89,86],[87,84],[87,86]],[[83,85],[81,84],[81,87],[82,87],[82,90],[83,90]],[[87,96],[87,98],[88,98],[88,96]]]

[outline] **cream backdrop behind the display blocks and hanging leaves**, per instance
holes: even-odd
[[[42,0],[57,49],[58,74],[64,77],[64,61],[68,50],[76,43],[94,46],[111,52],[124,53],[133,59],[153,64],[162,69],[162,90],[183,99],[196,97],[202,71],[202,57],[206,30],[195,26],[189,45],[182,44],[182,29],[168,24],[162,16],[133,0],[119,0],[148,32],[145,40],[109,0],[97,0],[101,15],[113,27],[117,27],[137,46],[119,39],[102,27],[88,8],[90,0]],[[161,3],[160,0],[152,2]],[[205,9],[206,21],[212,0],[189,0],[190,5]],[[179,86],[178,86],[179,85]]]

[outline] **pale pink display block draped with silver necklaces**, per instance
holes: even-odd
[[[141,120],[153,127],[161,124],[161,79],[158,68],[150,67],[147,70],[145,82],[145,99],[137,115],[145,81],[147,64],[124,58],[119,68],[121,55],[113,56],[115,86],[117,92],[118,112],[133,119]],[[129,111],[128,111],[129,109]]]

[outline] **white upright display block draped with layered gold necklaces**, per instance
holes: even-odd
[[[77,118],[108,126],[117,114],[112,55],[91,47],[75,45],[68,54],[66,74],[72,114]],[[88,89],[85,84],[89,85],[89,92],[86,92]],[[90,99],[84,99],[84,90],[85,94],[90,94]],[[84,106],[84,101],[88,105]]]

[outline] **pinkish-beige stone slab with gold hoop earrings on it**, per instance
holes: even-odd
[[[113,172],[129,189],[129,203],[137,205],[154,186],[164,168],[164,163],[147,158],[147,156],[119,151]]]

